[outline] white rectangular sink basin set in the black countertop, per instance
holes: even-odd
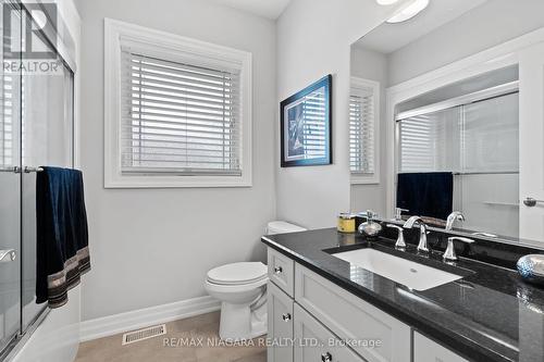
[[[426,290],[462,278],[460,275],[397,258],[375,249],[358,249],[332,255],[415,290]]]

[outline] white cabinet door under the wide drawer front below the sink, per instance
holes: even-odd
[[[295,303],[295,361],[366,362]]]

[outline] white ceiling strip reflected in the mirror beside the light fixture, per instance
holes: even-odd
[[[392,53],[486,1],[431,0],[429,7],[413,18],[398,24],[384,23],[357,41],[356,46]]]

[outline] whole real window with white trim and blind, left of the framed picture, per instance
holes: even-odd
[[[106,187],[250,186],[250,54],[106,29]]]

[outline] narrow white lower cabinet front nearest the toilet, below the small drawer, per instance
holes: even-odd
[[[268,283],[268,362],[293,362],[293,299]]]

